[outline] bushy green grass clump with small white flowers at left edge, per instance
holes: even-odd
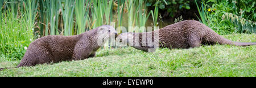
[[[23,17],[13,17],[9,11],[4,13],[0,20],[0,54],[9,60],[20,60],[34,40],[33,30]]]

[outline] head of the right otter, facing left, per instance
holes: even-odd
[[[134,45],[134,34],[132,32],[121,33],[115,39],[116,42],[122,45],[133,46]]]

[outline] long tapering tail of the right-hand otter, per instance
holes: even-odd
[[[256,42],[234,42],[234,41],[231,41],[229,39],[226,39],[226,38],[218,35],[212,29],[208,30],[208,33],[205,34],[204,39],[206,39],[209,42],[219,43],[219,44],[226,44],[226,45],[235,45],[235,46],[256,45]]]

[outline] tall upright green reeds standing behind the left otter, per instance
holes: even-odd
[[[147,1],[125,0],[3,0],[0,2],[11,11],[13,17],[24,16],[28,28],[36,28],[41,36],[81,34],[88,28],[117,22],[117,27],[123,26],[123,13],[128,12],[126,20],[128,27],[144,27],[148,19]],[[117,18],[113,15],[113,4],[118,3]],[[2,10],[0,10],[2,13]],[[157,13],[155,13],[157,14]],[[155,18],[155,17],[154,17]],[[37,31],[38,30],[38,31]],[[143,32],[144,30],[136,30]],[[118,30],[121,33],[120,30]]]

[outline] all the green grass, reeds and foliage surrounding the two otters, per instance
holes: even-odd
[[[163,28],[194,19],[234,41],[255,42],[255,4],[253,0],[0,0],[0,68],[18,65],[36,38],[72,36],[101,25],[112,25],[118,33],[122,33],[118,27],[145,32],[143,27]],[[96,58],[8,69],[0,76],[255,76],[254,55],[255,46],[154,53],[102,48]]]

